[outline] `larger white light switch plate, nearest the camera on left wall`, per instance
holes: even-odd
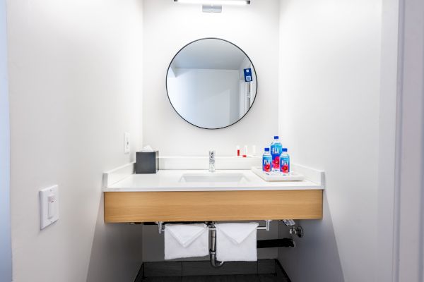
[[[40,228],[44,229],[59,219],[58,186],[40,190]]]

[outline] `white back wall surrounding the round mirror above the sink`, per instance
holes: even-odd
[[[278,1],[224,6],[201,13],[200,5],[144,1],[143,144],[162,155],[233,155],[235,145],[264,147],[278,130]],[[258,94],[242,121],[220,130],[190,125],[172,109],[165,78],[172,57],[194,39],[220,37],[237,44],[257,71]],[[254,130],[253,130],[254,129]],[[184,133],[184,134],[182,134]]]

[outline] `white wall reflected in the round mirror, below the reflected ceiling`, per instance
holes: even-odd
[[[167,78],[170,102],[194,125],[223,128],[238,120],[239,76],[237,70],[176,68]]]

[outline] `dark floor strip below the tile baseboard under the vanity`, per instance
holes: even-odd
[[[286,282],[275,274],[147,277],[143,282]]]

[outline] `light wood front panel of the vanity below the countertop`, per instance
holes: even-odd
[[[322,219],[322,190],[105,192],[105,222]]]

